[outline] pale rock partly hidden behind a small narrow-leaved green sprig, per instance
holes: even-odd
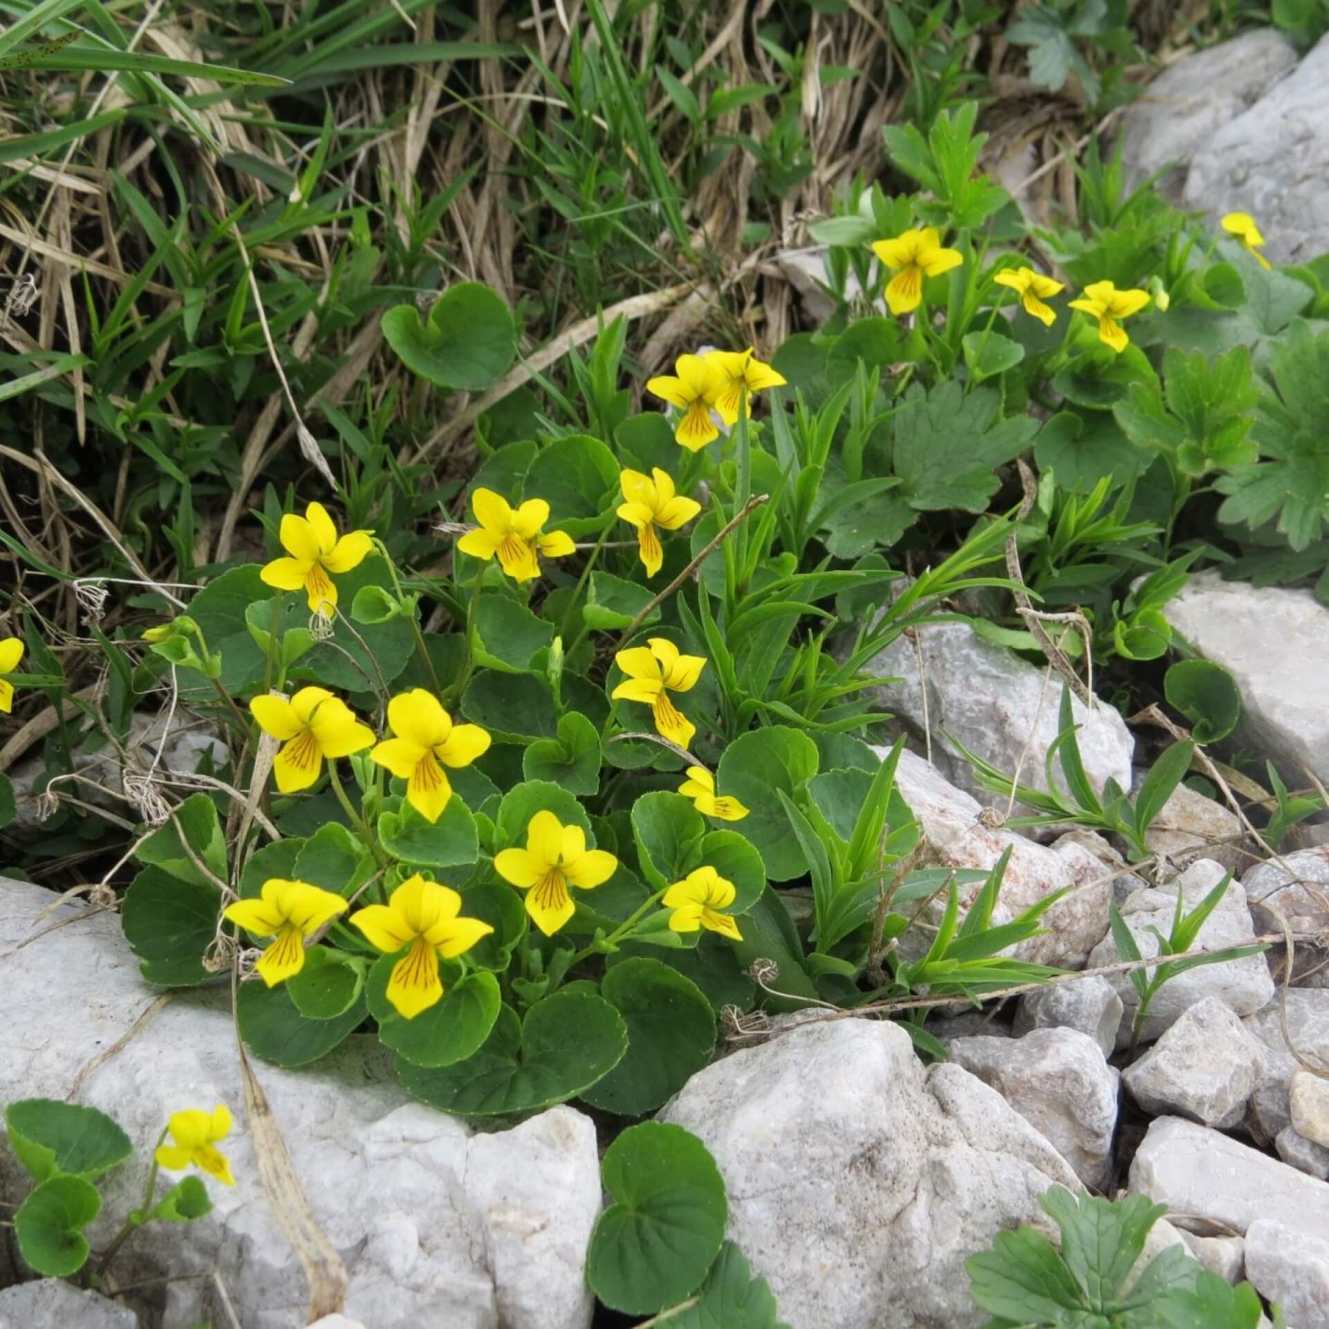
[[[1179,890],[1185,908],[1191,909],[1223,880],[1224,874],[1219,864],[1209,859],[1201,859],[1166,885],[1158,889],[1138,890],[1131,896],[1122,905],[1122,918],[1131,930],[1140,954],[1146,957],[1158,954],[1158,938],[1151,929],[1156,928],[1164,937],[1171,932]],[[1245,894],[1240,882],[1232,881],[1200,929],[1196,948],[1223,950],[1228,946],[1247,945],[1253,940],[1255,929],[1251,925],[1251,910],[1247,908]],[[1116,942],[1108,933],[1094,948],[1088,957],[1088,968],[1114,965],[1120,958]],[[1139,1007],[1139,995],[1127,974],[1112,974],[1108,982],[1116,989],[1126,1009],[1118,1033],[1118,1046],[1126,1046],[1130,1042],[1131,1022]],[[1265,1006],[1272,995],[1273,979],[1269,977],[1269,966],[1263,954],[1188,969],[1166,982],[1154,997],[1140,1030],[1140,1042],[1152,1042],[1183,1011],[1205,997],[1216,997],[1239,1015],[1248,1015]]]

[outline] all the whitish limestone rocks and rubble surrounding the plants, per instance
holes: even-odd
[[[1187,207],[1260,217],[1272,258],[1329,249],[1329,39],[1300,62],[1273,32],[1189,56],[1122,125],[1132,181],[1167,169]],[[1192,579],[1174,627],[1236,676],[1237,742],[1289,784],[1329,783],[1329,609],[1309,591]],[[924,670],[920,674],[918,659]],[[1282,932],[1296,941],[1193,969],[1154,1002],[1139,1046],[1138,1001],[1120,973],[1088,975],[985,1014],[936,1019],[950,1061],[925,1067],[908,1035],[868,1019],[788,1021],[703,1070],[661,1112],[715,1155],[730,1235],[795,1329],[969,1329],[964,1261],[1021,1223],[1047,1228],[1050,1185],[1128,1191],[1166,1203],[1160,1240],[1249,1278],[1294,1329],[1329,1329],[1329,845],[1298,828],[1265,861],[1227,807],[1179,789],[1150,833],[1148,878],[1084,831],[1035,839],[991,824],[981,791],[940,738],[995,766],[1025,754],[1041,772],[1055,738],[1043,672],[957,623],[921,629],[876,662],[877,700],[914,751],[898,787],[924,831],[924,864],[990,868],[1011,849],[994,922],[1066,890],[1022,958],[1082,970],[1120,957],[1116,904],[1139,948],[1236,873],[1200,933],[1207,949]],[[1106,703],[1076,703],[1090,779],[1138,776],[1131,732]],[[932,763],[926,760],[929,751]],[[206,738],[198,742],[206,743]],[[189,766],[190,752],[169,755]],[[1027,751],[1026,751],[1027,748]],[[17,775],[17,772],[16,772]],[[23,809],[21,779],[20,809]],[[995,819],[999,823],[999,817]],[[153,1138],[181,1098],[245,1100],[226,994],[162,998],[138,975],[112,913],[24,882],[0,882],[0,1092],[101,1107]],[[256,1067],[314,1215],[350,1271],[346,1316],[324,1329],[586,1329],[586,1244],[599,1211],[597,1132],[573,1107],[481,1134],[413,1103],[376,1041],[352,1038],[312,1070]],[[238,1112],[238,1118],[241,1114]],[[0,1292],[0,1326],[187,1325],[217,1288],[245,1329],[286,1329],[306,1304],[300,1267],[255,1179],[246,1130],[241,1184],[214,1212],[140,1233],[112,1304],[60,1282]],[[20,1177],[0,1152],[0,1192]],[[108,1215],[133,1203],[106,1187]],[[93,1244],[110,1236],[98,1220]],[[163,1282],[161,1280],[170,1278]],[[3,1281],[3,1280],[0,1280]]]

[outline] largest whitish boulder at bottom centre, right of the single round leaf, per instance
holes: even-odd
[[[998,1231],[1051,1235],[1061,1155],[896,1025],[805,1025],[694,1075],[661,1112],[724,1175],[728,1235],[799,1329],[977,1329],[964,1261]]]

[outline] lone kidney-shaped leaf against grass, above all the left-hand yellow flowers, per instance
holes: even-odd
[[[383,336],[408,369],[445,391],[482,392],[517,354],[512,311],[480,282],[449,286],[428,320],[415,304],[388,310]]]

